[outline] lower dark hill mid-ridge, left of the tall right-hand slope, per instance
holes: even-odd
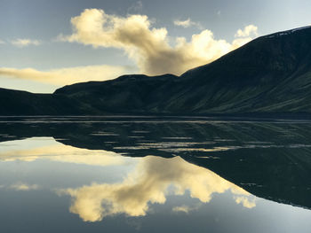
[[[146,106],[163,102],[163,91],[172,89],[177,81],[172,74],[124,75],[107,82],[76,83],[57,89],[54,95],[70,97],[100,112],[144,113]]]

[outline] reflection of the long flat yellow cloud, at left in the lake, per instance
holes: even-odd
[[[124,164],[124,158],[112,151],[90,151],[86,149],[80,149],[57,143],[53,138],[51,138],[52,144],[50,142],[50,144],[40,146],[40,140],[43,139],[33,137],[30,139],[13,141],[13,145],[8,146],[7,151],[0,151],[0,159],[4,161],[33,161],[36,159],[50,159],[52,161],[92,166],[111,166]],[[11,142],[5,142],[1,143],[1,145],[10,145],[10,143]],[[14,148],[20,148],[25,144],[29,145],[32,143],[35,143],[35,145],[28,146],[24,149],[14,150]]]

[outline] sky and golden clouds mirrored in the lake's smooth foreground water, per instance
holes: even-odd
[[[274,232],[282,229],[281,223],[291,229],[310,227],[306,221],[309,211],[255,199],[210,170],[179,157],[127,158],[110,151],[74,148],[52,138],[0,143],[0,193],[0,217],[5,222],[12,222],[13,215],[25,221],[19,219],[21,213],[60,212],[60,225],[66,229],[90,227],[84,232],[92,232],[95,226],[81,225],[84,221],[97,221],[100,225],[96,226],[108,231],[127,232],[160,230],[157,221],[165,221],[166,230],[180,232],[191,230],[184,226],[186,222],[194,229],[225,232],[241,232],[251,226],[258,227],[252,232],[263,232],[265,227],[259,230],[260,224],[275,227]],[[44,207],[38,210],[39,203]],[[5,214],[10,211],[12,215]],[[52,214],[24,218],[28,226],[41,218],[52,224],[57,218]],[[79,218],[73,221],[74,216]],[[289,218],[291,221],[284,221]]]

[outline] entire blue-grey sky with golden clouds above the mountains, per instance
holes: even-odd
[[[308,0],[0,0],[0,88],[183,74],[311,24]]]

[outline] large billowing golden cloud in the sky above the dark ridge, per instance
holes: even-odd
[[[99,9],[84,10],[71,19],[71,24],[72,35],[60,35],[60,40],[94,48],[124,50],[139,66],[141,73],[150,75],[182,74],[195,66],[210,63],[251,40],[238,38],[228,43],[215,39],[212,32],[205,29],[192,35],[190,42],[185,37],[177,37],[170,42],[166,28],[152,27],[146,15],[121,17]],[[184,25],[187,25],[187,20]]]

